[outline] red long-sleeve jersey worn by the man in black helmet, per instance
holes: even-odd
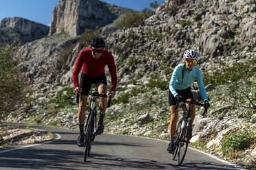
[[[98,59],[93,58],[92,50],[89,48],[83,49],[78,54],[78,58],[76,59],[76,64],[74,66],[74,71],[72,75],[74,87],[76,88],[79,86],[78,75],[81,71],[82,66],[83,73],[91,77],[96,77],[105,73],[106,65],[109,67],[109,73],[111,75],[111,90],[116,91],[116,64],[114,62],[114,57],[106,49],[103,50],[103,53]]]

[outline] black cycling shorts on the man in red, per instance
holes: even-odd
[[[100,86],[100,84],[105,84],[107,86],[107,77],[105,73],[98,75],[96,77],[90,77],[89,75],[86,75],[82,72],[79,82],[79,87],[82,88],[81,95],[88,95],[89,90],[91,90],[92,84],[95,84],[97,89],[98,86]]]

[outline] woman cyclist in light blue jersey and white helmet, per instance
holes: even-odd
[[[206,90],[204,88],[204,82],[202,80],[202,73],[197,66],[195,66],[196,60],[198,60],[198,52],[189,49],[184,52],[184,63],[175,67],[171,81],[169,83],[169,106],[171,110],[171,121],[169,124],[170,142],[167,151],[173,153],[174,147],[174,135],[176,125],[178,121],[178,108],[175,110],[175,106],[182,99],[193,99],[191,91],[191,84],[198,82],[200,93],[204,99],[204,108],[209,108],[210,104],[207,99]],[[195,119],[195,106],[191,106],[191,122]]]

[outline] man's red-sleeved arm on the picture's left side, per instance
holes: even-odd
[[[78,57],[76,59],[76,64],[74,66],[74,71],[73,71],[73,75],[72,75],[72,80],[73,80],[73,83],[74,83],[74,87],[77,88],[79,86],[79,80],[78,80],[78,75],[81,71],[81,68],[83,66],[83,51],[81,51],[79,54],[78,54]]]

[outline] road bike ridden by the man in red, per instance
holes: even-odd
[[[96,123],[97,123],[97,110],[96,110],[96,101],[98,97],[107,97],[107,95],[100,95],[96,90],[92,90],[92,92],[89,92],[89,95],[92,96],[90,107],[89,107],[89,114],[87,117],[87,121],[85,124],[85,140],[84,140],[84,147],[85,147],[85,156],[84,161],[86,162],[87,156],[89,157],[90,151],[92,149],[92,143],[94,142],[95,136],[97,136],[97,130],[96,130]],[[111,98],[109,98],[109,101],[107,103],[107,108],[109,108],[111,104]]]

